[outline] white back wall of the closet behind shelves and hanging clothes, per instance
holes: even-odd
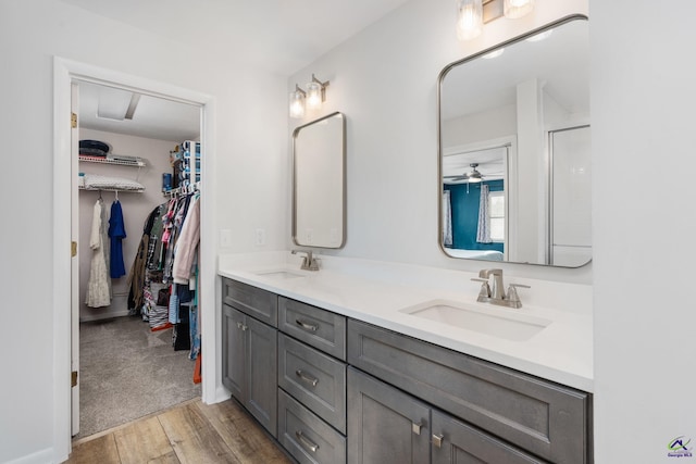
[[[150,212],[167,200],[162,196],[162,173],[172,173],[170,165],[170,151],[174,150],[182,140],[156,140],[144,137],[133,137],[122,134],[104,133],[101,130],[79,129],[80,140],[100,140],[111,146],[111,152],[128,156],[140,156],[147,166],[130,167],[97,163],[79,163],[79,171],[87,174],[99,174],[104,176],[125,177],[142,184],[142,193],[120,192],[119,202],[123,210],[123,220],[127,237],[122,240],[123,262],[126,275],[112,279],[113,299],[109,306],[89,308],[85,304],[87,283],[91,268],[91,250],[89,248],[89,234],[91,233],[91,221],[94,205],[99,198],[99,192],[83,190],[79,192],[79,319],[95,321],[107,317],[123,316],[128,312],[128,273],[133,265],[133,260],[137,253],[142,237],[142,226]],[[113,192],[102,192],[102,199],[107,211],[111,211],[111,203],[115,195]],[[107,214],[109,216],[109,214]]]

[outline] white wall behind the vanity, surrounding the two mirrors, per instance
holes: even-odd
[[[412,0],[311,65],[290,76],[304,86],[314,73],[331,80],[320,112],[289,120],[288,134],[333,111],[347,116],[348,233],[345,249],[325,253],[478,269],[480,262],[451,260],[437,240],[436,89],[447,64],[572,13],[582,0],[540,1],[533,15],[498,20],[470,42],[455,32],[450,0]],[[288,240],[289,243],[289,240]],[[506,275],[589,283],[581,269],[505,265]]]

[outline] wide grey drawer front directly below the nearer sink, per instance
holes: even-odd
[[[348,362],[548,461],[591,461],[585,392],[352,319]]]

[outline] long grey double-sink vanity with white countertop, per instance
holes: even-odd
[[[298,462],[592,462],[588,286],[512,309],[472,273],[300,261],[219,262],[223,385]]]

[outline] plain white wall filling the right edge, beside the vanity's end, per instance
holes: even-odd
[[[696,5],[652,7],[591,3],[599,464],[696,459],[667,456],[696,446]],[[646,188],[656,166],[669,175]]]

